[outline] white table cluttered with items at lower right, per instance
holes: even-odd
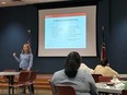
[[[97,92],[103,93],[114,93],[114,94],[122,94],[124,88],[116,88],[114,86],[107,86],[106,83],[96,83]]]

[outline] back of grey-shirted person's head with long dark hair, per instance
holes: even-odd
[[[74,78],[81,64],[81,57],[77,51],[68,55],[65,63],[65,73],[68,78]]]

